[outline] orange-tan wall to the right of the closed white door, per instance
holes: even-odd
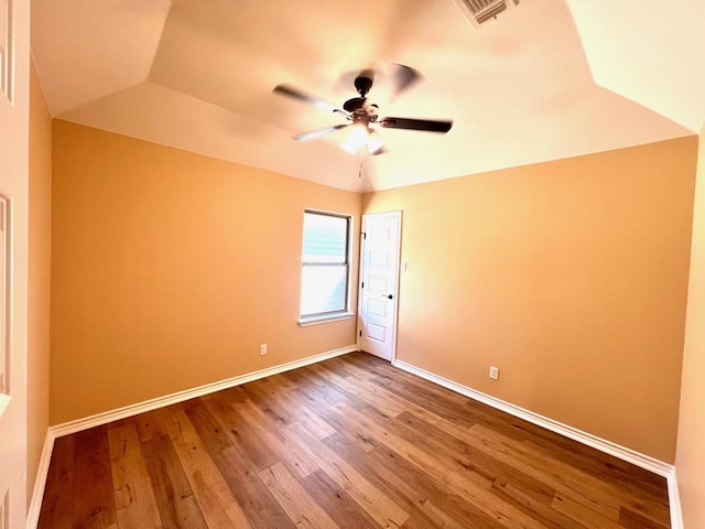
[[[691,137],[366,195],[403,210],[398,357],[672,463],[696,153]]]

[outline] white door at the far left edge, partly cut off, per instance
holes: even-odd
[[[0,529],[26,512],[29,6],[0,0]]]

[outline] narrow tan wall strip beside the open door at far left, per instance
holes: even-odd
[[[52,117],[31,65],[28,270],[28,503],[48,428]]]

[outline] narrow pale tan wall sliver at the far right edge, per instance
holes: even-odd
[[[685,527],[705,527],[705,127],[697,161],[675,466]]]

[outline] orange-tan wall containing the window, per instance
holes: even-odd
[[[53,147],[53,424],[355,344],[296,321],[304,208],[359,231],[360,195],[65,121]]]

